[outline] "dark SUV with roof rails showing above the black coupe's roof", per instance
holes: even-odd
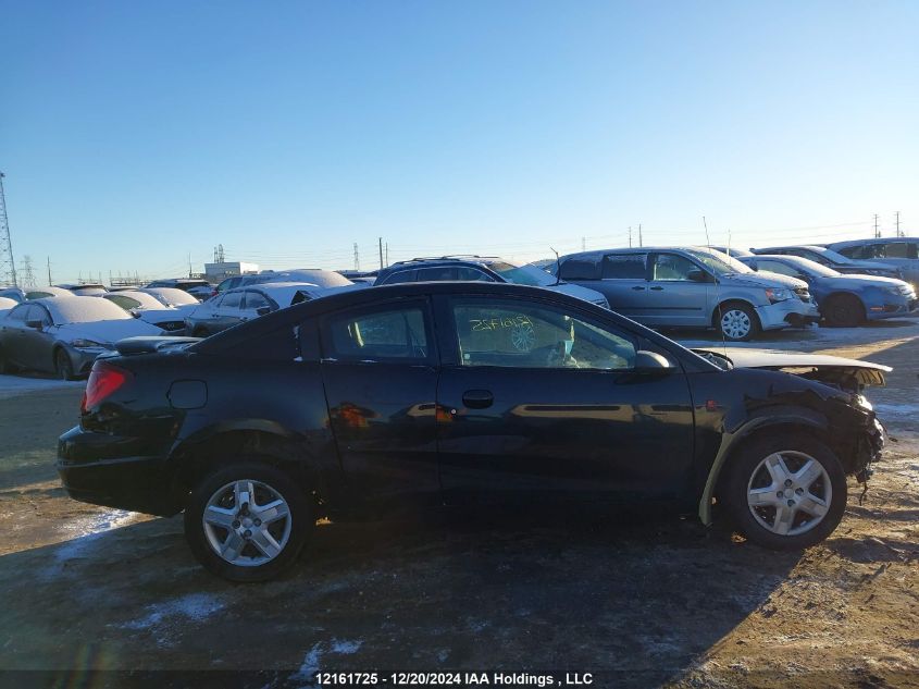
[[[405,282],[455,280],[543,287],[609,308],[607,298],[596,290],[570,284],[534,266],[514,263],[497,256],[470,254],[412,258],[382,269],[373,284],[383,286]]]

